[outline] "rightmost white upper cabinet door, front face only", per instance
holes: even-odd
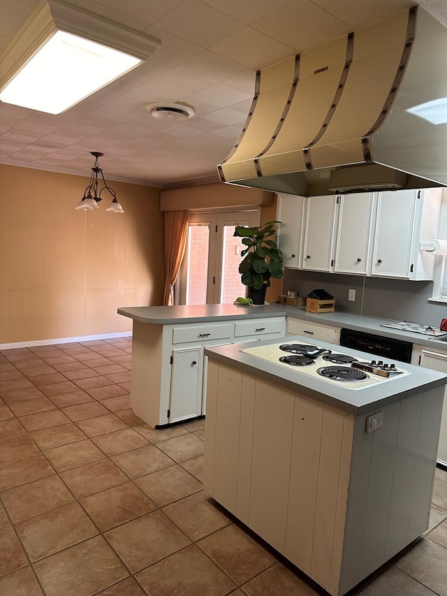
[[[410,279],[418,191],[379,193],[372,275]],[[420,204],[422,207],[422,205]]]

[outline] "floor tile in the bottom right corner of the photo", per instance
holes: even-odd
[[[422,539],[395,563],[406,574],[447,596],[447,548],[430,539]]]

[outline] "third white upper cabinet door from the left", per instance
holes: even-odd
[[[336,273],[366,275],[374,199],[375,194],[369,192],[339,197]]]

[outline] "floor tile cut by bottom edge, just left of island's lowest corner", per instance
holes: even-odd
[[[249,596],[318,595],[313,588],[281,563],[276,563],[276,565],[249,581],[243,589]]]

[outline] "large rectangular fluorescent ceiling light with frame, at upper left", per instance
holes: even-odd
[[[63,0],[44,1],[1,56],[0,101],[59,114],[131,71],[158,46]]]

